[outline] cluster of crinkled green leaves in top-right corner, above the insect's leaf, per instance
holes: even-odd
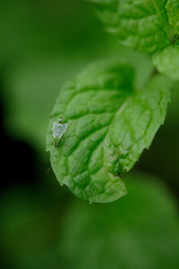
[[[125,46],[153,55],[154,65],[162,74],[178,80],[173,70],[179,62],[170,62],[179,48],[171,46],[179,39],[179,4],[177,0],[91,0],[107,30],[117,35]],[[173,51],[174,50],[174,51]],[[176,73],[176,72],[175,72]]]

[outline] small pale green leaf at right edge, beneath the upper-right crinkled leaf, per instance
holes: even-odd
[[[166,74],[173,80],[179,80],[179,44],[158,51],[152,59],[161,74]]]

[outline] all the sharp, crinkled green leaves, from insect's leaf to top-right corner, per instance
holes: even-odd
[[[161,74],[179,78],[175,1],[92,2],[121,44],[148,53]],[[47,151],[61,185],[90,203],[111,202],[126,194],[123,173],[149,148],[171,99],[172,82],[155,72],[151,76],[136,88],[131,65],[107,61],[91,65],[64,85],[47,133]],[[56,149],[52,126],[59,117],[68,128]]]

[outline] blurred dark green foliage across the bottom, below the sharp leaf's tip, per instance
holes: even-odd
[[[89,206],[73,197],[66,206],[57,193],[49,203],[27,189],[1,197],[1,246],[8,268],[177,268],[173,195],[156,177],[135,172],[125,179],[129,195],[111,204]]]

